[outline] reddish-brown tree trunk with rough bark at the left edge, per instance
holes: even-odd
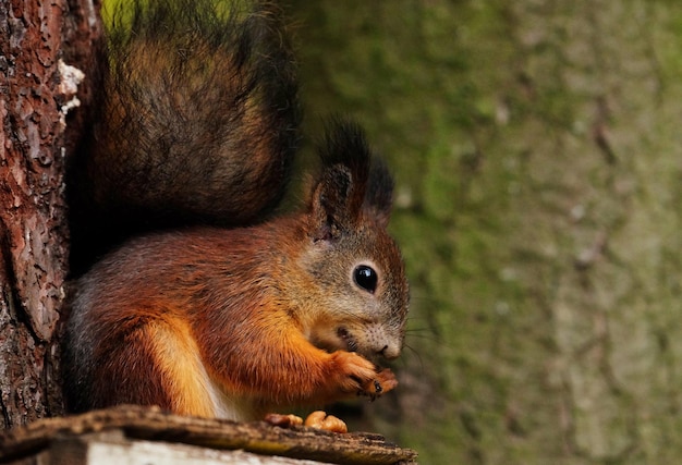
[[[0,3],[4,428],[63,411],[57,336],[68,258],[63,174],[83,121],[74,108],[89,100],[87,81],[78,82],[80,70],[87,79],[99,36],[97,9],[88,0]]]

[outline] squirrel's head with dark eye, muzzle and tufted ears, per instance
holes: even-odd
[[[400,250],[387,232],[393,181],[358,126],[337,122],[312,188],[301,256],[312,295],[304,331],[315,345],[367,358],[398,357],[409,290]],[[315,308],[310,308],[314,306]]]

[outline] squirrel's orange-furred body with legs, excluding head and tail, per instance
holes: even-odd
[[[317,319],[310,315],[321,313],[321,321],[333,326],[333,313],[314,310],[324,302],[313,283],[304,284],[308,295],[292,294],[300,291],[284,279],[304,272],[294,265],[302,250],[288,241],[280,248],[273,234],[302,241],[301,220],[151,235],[105,260],[75,301],[89,308],[83,331],[98,334],[95,378],[108,379],[88,395],[120,403],[129,401],[125,391],[149,384],[144,395],[131,394],[134,402],[255,419],[276,408],[393,389],[390,370],[355,353],[313,345],[306,327]]]

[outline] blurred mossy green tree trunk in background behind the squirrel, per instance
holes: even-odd
[[[423,463],[682,458],[682,3],[293,2],[309,126],[398,174]]]

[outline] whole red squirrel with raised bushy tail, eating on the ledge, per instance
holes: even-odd
[[[252,420],[397,386],[376,365],[399,356],[409,307],[391,175],[336,121],[305,205],[271,215],[297,85],[277,11],[242,7],[136,1],[113,20],[68,178],[71,412]]]

